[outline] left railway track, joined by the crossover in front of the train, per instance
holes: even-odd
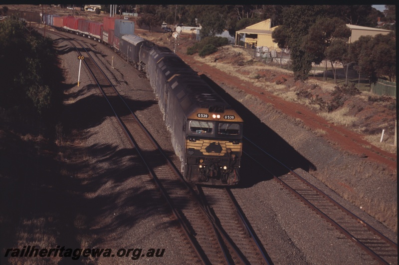
[[[57,32],[51,33],[65,36]],[[205,203],[205,197],[200,199],[198,193],[183,180],[180,172],[91,57],[91,51],[87,50],[82,44],[78,48],[71,40],[68,41],[76,48],[79,56],[84,56],[84,63],[96,81],[99,90],[168,202],[198,259],[203,264],[247,264],[249,262],[251,264],[268,264],[267,254],[258,243],[250,226],[245,222],[241,210],[237,210],[237,204],[234,203],[231,192],[226,191],[231,205],[235,208],[235,210],[232,208],[231,211],[237,213],[237,216],[241,216],[236,218],[236,220],[241,221],[236,222],[235,227],[229,226],[225,229],[220,220],[225,219],[226,216],[231,216],[231,211],[228,214],[219,215],[221,219],[213,214],[213,210],[210,210],[209,205]],[[199,190],[202,189],[199,188]],[[211,206],[214,208],[222,207],[214,202]],[[243,232],[244,230],[246,232]],[[234,231],[240,231],[237,233],[238,237],[234,235],[236,234]]]

